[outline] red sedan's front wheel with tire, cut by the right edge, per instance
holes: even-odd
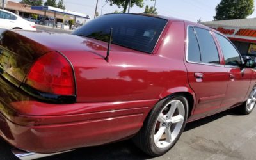
[[[242,115],[249,115],[250,113],[252,113],[253,109],[255,108],[255,105],[256,105],[256,86],[253,87],[246,102],[244,102],[243,105],[239,106],[238,111]]]

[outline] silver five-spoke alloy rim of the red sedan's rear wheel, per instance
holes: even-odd
[[[166,148],[179,135],[185,117],[185,106],[180,100],[171,100],[164,106],[154,127],[154,143],[158,148]]]

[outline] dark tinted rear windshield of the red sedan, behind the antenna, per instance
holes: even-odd
[[[109,14],[88,22],[72,35],[108,42],[113,28],[113,44],[151,53],[167,21],[145,15]]]

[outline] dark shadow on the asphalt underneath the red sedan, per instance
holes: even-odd
[[[237,115],[234,109],[218,113],[213,116],[203,118],[201,120],[196,120],[195,122],[190,122],[186,125],[184,132],[201,125],[208,124],[214,120],[218,120],[227,115]],[[0,159],[1,160],[17,160],[10,151],[12,147],[8,145],[3,140],[0,140]],[[101,145],[97,147],[87,147],[79,148],[72,152],[67,152],[65,154],[58,154],[56,156],[44,157],[40,160],[84,160],[84,159],[151,159],[152,157],[147,156],[138,149],[131,140],[120,141],[117,143],[111,143],[108,145]]]

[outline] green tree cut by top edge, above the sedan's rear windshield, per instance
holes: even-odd
[[[126,13],[130,0],[107,0],[107,1],[109,1],[110,6],[115,4],[116,6],[118,6],[118,8],[123,8],[123,13]],[[134,5],[142,8],[143,0],[131,0],[131,7]]]

